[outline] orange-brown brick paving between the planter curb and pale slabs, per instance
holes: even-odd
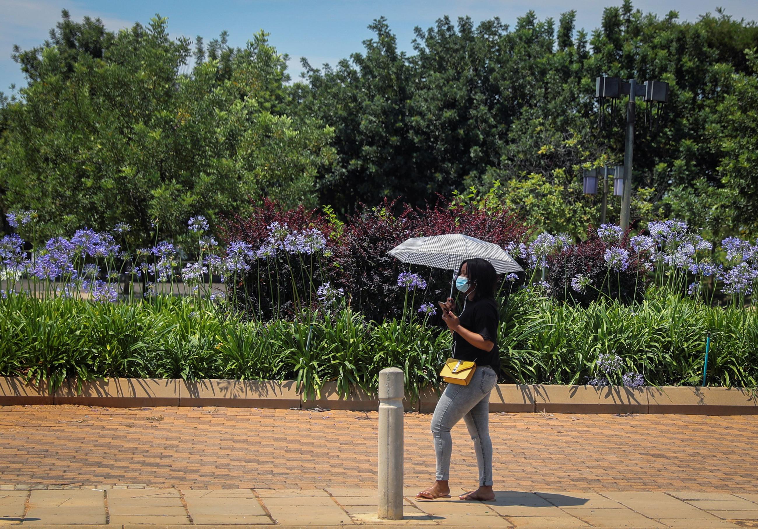
[[[406,414],[406,486],[431,483],[430,414]],[[496,490],[758,493],[758,416],[491,414]],[[472,486],[464,424],[451,485]],[[0,486],[376,486],[377,414],[0,407]]]

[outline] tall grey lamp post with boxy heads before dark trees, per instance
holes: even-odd
[[[622,186],[621,200],[621,219],[619,225],[622,229],[629,226],[630,205],[631,205],[631,168],[632,156],[634,155],[634,118],[637,115],[636,100],[642,97],[644,102],[656,103],[661,105],[669,101],[669,83],[662,81],[645,81],[640,84],[636,80],[627,81],[619,77],[597,77],[595,87],[595,99],[600,102],[600,112],[602,116],[605,99],[620,99],[622,96],[629,96],[626,107],[626,138],[624,146],[624,177]],[[652,120],[651,120],[652,122]],[[603,120],[600,120],[603,123]],[[619,174],[616,173],[616,178]],[[614,185],[615,187],[615,185]]]

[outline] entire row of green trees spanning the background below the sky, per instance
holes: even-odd
[[[657,17],[631,0],[591,32],[575,20],[443,17],[406,53],[381,17],[361,52],[303,59],[290,83],[265,33],[243,49],[225,32],[192,46],[160,17],[111,33],[64,11],[42,46],[14,50],[28,86],[0,95],[0,206],[38,209],[47,231],[127,220],[145,234],[161,218],[175,236],[192,214],[244,216],[249,197],[344,219],[359,203],[423,207],[473,187],[584,237],[600,196],[582,193],[582,172],[624,153],[624,101],[598,127],[595,78],[609,75],[671,89],[652,122],[638,100],[633,219],[758,233],[756,24],[721,9]],[[610,197],[608,219],[618,211]]]

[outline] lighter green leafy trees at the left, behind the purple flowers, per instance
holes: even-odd
[[[171,238],[249,197],[318,205],[332,131],[282,112],[286,57],[265,33],[243,49],[198,39],[191,74],[189,39],[172,40],[165,18],[114,34],[64,12],[51,37],[15,55],[29,86],[5,109],[3,209],[37,209],[50,233],[129,222],[144,241],[155,219]]]

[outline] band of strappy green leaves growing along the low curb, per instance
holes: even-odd
[[[649,385],[699,385],[706,336],[709,385],[755,387],[758,379],[755,310],[654,294],[633,307],[581,308],[522,291],[503,301],[502,316],[504,382],[583,384],[602,375],[622,383],[631,372]],[[350,385],[375,390],[379,370],[397,366],[412,398],[437,380],[450,345],[449,333],[425,320],[368,322],[343,308],[311,323],[258,323],[170,297],[99,304],[11,295],[0,300],[0,338],[0,374],[54,387],[116,376],[295,379],[309,395],[329,381],[344,394]],[[601,373],[599,354],[618,354],[622,368]]]

